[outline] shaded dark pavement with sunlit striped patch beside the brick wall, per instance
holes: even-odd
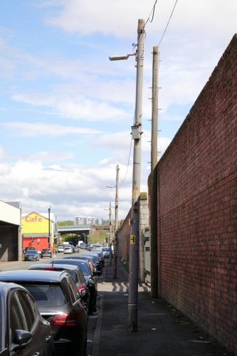
[[[139,284],[138,331],[127,333],[128,273],[117,259],[105,261],[99,284],[98,321],[91,356],[223,356],[233,355],[199,330],[161,298],[152,300],[149,286]]]

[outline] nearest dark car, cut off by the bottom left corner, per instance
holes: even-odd
[[[38,312],[28,291],[15,283],[0,282],[2,356],[53,356],[51,326]]]

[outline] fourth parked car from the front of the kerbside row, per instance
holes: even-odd
[[[66,261],[66,262],[65,262]],[[52,261],[51,261],[52,262]],[[66,258],[66,259],[56,259],[53,260],[53,265],[56,264],[70,264],[74,266],[78,266],[80,271],[83,273],[83,276],[86,281],[86,285],[90,290],[90,305],[89,305],[89,313],[93,313],[96,311],[96,296],[97,296],[97,289],[98,289],[98,280],[96,273],[90,268],[88,261],[74,259],[74,258]]]

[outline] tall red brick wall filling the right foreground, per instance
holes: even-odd
[[[159,295],[237,355],[237,38],[158,164]]]

